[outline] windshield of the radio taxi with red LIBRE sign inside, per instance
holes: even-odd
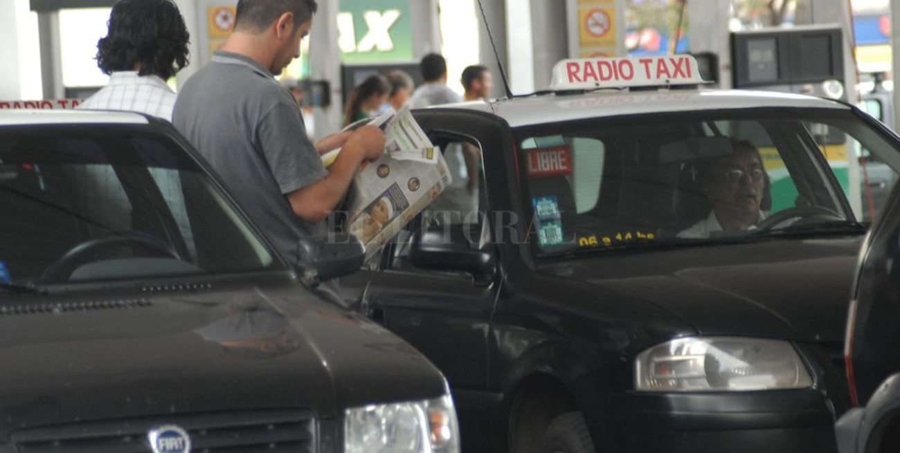
[[[518,129],[517,143],[539,254],[859,234],[854,210],[872,197],[858,156],[900,168],[850,110],[581,120]]]

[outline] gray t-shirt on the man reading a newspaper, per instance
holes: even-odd
[[[327,233],[285,198],[328,171],[293,95],[255,60],[216,51],[184,84],[172,122],[289,262],[298,262],[302,237]]]

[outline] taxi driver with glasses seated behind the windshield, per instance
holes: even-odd
[[[748,141],[732,140],[732,153],[699,165],[702,190],[712,210],[703,220],[681,231],[680,238],[707,238],[743,231],[766,218],[762,200],[769,190],[760,151]]]

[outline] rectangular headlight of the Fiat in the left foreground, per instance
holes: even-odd
[[[428,401],[347,409],[347,453],[458,453],[459,428],[449,395]]]

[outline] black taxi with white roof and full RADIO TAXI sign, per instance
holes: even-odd
[[[842,102],[704,90],[689,57],[554,74],[414,111],[445,155],[481,151],[480,189],[455,174],[458,208],[346,297],[445,373],[465,451],[834,451],[851,161],[900,168],[900,141]]]

